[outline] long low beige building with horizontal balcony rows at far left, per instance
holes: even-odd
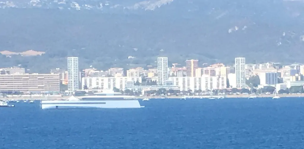
[[[0,75],[0,91],[60,92],[59,74]]]

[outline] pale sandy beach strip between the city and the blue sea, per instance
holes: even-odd
[[[225,98],[248,98],[250,95],[226,95]],[[260,95],[251,95],[251,96],[256,96],[256,98],[271,98],[274,97],[274,94],[260,94]],[[277,94],[277,96],[282,97],[282,98],[287,98],[287,97],[303,97],[304,94]],[[66,100],[70,96],[66,97],[0,97],[0,100],[60,100],[64,99]],[[210,98],[210,97],[223,97],[223,95],[201,95],[201,96],[136,96],[136,99],[144,99],[144,98]],[[77,98],[77,97],[76,97]]]

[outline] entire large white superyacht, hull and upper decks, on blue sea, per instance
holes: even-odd
[[[92,96],[75,98],[71,96],[68,100],[41,101],[42,109],[70,109],[70,108],[143,108],[135,96],[121,95],[113,91],[94,93]]]

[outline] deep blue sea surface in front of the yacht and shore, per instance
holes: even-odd
[[[0,108],[1,149],[302,149],[304,98],[151,99],[140,109]]]

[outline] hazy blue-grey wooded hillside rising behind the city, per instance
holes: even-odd
[[[303,62],[304,1],[75,0],[0,2],[0,51],[42,51],[0,58],[1,67],[35,71],[66,67],[153,65],[171,62]],[[1,55],[0,55],[1,56]],[[132,56],[133,58],[130,58]],[[129,57],[129,58],[128,58]]]

